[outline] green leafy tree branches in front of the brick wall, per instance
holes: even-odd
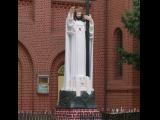
[[[135,39],[140,41],[140,0],[132,0],[133,9],[126,12],[121,17],[122,23],[128,29],[128,32],[133,35]],[[129,53],[124,48],[117,48],[118,53],[122,56],[119,64],[127,63],[132,64],[137,70],[140,68],[140,51],[136,53]]]

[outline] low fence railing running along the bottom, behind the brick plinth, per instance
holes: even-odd
[[[80,115],[79,120],[140,120],[140,113],[117,113],[108,114],[101,113],[101,117],[97,115]],[[18,120],[69,120],[66,116],[64,119],[58,119],[53,113],[18,113]]]

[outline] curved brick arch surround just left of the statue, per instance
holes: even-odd
[[[64,51],[59,53],[52,62],[50,70],[50,93],[53,108],[57,105],[58,100],[58,69],[64,64]]]

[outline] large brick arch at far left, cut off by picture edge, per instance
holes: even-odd
[[[33,110],[33,93],[34,93],[34,81],[33,81],[33,62],[31,55],[26,47],[18,41],[18,74],[20,89],[20,111]]]

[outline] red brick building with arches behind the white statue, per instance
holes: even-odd
[[[18,0],[18,108],[51,111],[57,105],[58,70],[64,64],[65,19],[85,0]],[[117,66],[117,46],[137,49],[120,17],[132,0],[92,0],[95,23],[94,89],[98,109],[139,108],[139,72]],[[38,75],[49,78],[49,93],[37,93]]]

